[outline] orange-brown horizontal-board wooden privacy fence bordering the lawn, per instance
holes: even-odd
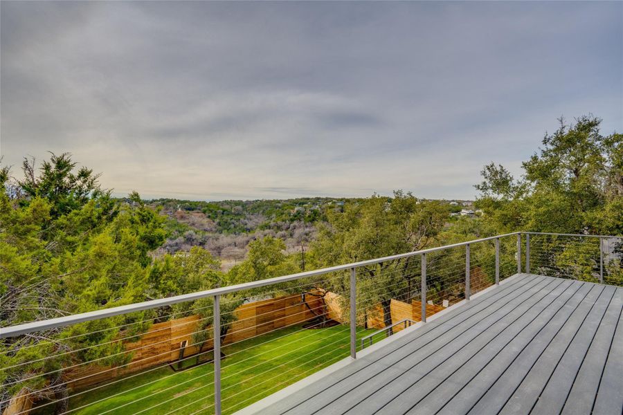
[[[320,290],[315,293],[320,293]],[[345,304],[344,299],[331,292],[324,293],[323,297],[306,295],[305,302],[303,302],[301,295],[289,295],[242,304],[234,311],[237,320],[231,324],[231,329],[229,329],[223,343],[240,342],[276,329],[308,322],[323,313],[327,313],[331,320],[345,322],[347,313],[343,311],[343,304]],[[426,305],[428,315],[440,310],[443,310],[443,307]],[[392,299],[390,303],[392,323],[405,318],[419,321],[421,311],[420,302],[414,301],[408,304]],[[68,370],[64,374],[69,382],[69,387],[82,389],[120,376],[176,362],[180,358],[183,342],[186,344],[183,348],[184,358],[199,353],[199,345],[194,344],[192,335],[197,331],[197,324],[200,319],[199,315],[190,315],[189,317],[153,324],[149,331],[140,335],[135,342],[125,342],[125,350],[132,352],[129,362],[118,365],[118,367],[78,365],[75,369]],[[385,327],[383,308],[380,304],[374,306],[367,313],[367,322],[370,329]],[[204,330],[211,330],[209,325],[202,327]],[[395,326],[394,331],[401,329],[401,327]],[[120,336],[124,337],[123,333]],[[213,341],[210,339],[204,344],[202,350],[205,353],[212,347]]]

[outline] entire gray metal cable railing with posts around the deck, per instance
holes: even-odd
[[[230,414],[516,273],[623,285],[622,258],[514,232],[4,327],[0,412]]]

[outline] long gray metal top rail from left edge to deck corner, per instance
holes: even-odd
[[[88,313],[81,313],[75,315],[67,315],[64,317],[53,318],[49,320],[42,320],[39,322],[30,322],[26,324],[19,324],[17,326],[9,326],[0,328],[0,339],[15,337],[18,335],[33,333],[34,331],[42,331],[48,329],[55,329],[57,327],[69,326],[71,324],[89,322],[92,320],[100,320],[102,318],[114,317],[115,315],[122,315],[127,313],[133,313],[134,311],[149,310],[151,308],[158,308],[163,306],[170,306],[172,304],[178,304],[181,302],[194,301],[195,299],[215,297],[216,295],[224,295],[235,293],[237,291],[250,290],[252,288],[260,288],[263,286],[269,286],[273,284],[280,284],[282,282],[296,281],[297,279],[306,277],[315,277],[316,275],[324,275],[328,273],[334,273],[336,271],[350,270],[361,268],[362,266],[379,264],[385,261],[392,261],[395,259],[413,257],[415,255],[428,254],[430,252],[436,252],[439,250],[446,250],[451,248],[457,248],[459,246],[466,246],[470,243],[478,243],[483,241],[491,241],[498,238],[509,237],[516,234],[522,234],[526,232],[512,232],[508,234],[500,234],[494,237],[487,237],[482,239],[474,239],[473,241],[466,241],[460,243],[453,243],[451,245],[437,246],[435,248],[427,248],[424,250],[417,250],[413,252],[406,252],[404,254],[390,255],[389,257],[368,259],[366,261],[353,262],[351,264],[332,266],[329,268],[320,268],[319,270],[306,271],[304,273],[285,275],[283,277],[274,277],[268,279],[261,279],[260,281],[246,282],[244,284],[236,284],[233,286],[226,286],[222,288],[213,288],[212,290],[197,291],[196,293],[175,295],[173,297],[166,297],[160,299],[153,299],[151,301],[140,302],[135,304],[128,304],[127,306],[118,306],[113,308],[104,308],[97,311],[89,311]]]

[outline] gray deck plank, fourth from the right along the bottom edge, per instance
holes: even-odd
[[[604,289],[605,286],[595,285],[591,293],[598,290],[599,294],[601,294]],[[597,297],[584,299],[577,310],[572,313],[563,329],[559,331],[543,354],[534,362],[530,372],[523,379],[513,396],[509,398],[500,414],[528,414],[532,411],[541,391],[543,391],[550,375],[556,369],[556,365],[561,356],[563,356],[568,344],[573,340],[584,319],[595,305]]]

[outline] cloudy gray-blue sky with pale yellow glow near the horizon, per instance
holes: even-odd
[[[473,199],[557,118],[623,131],[623,2],[0,3],[0,153],[122,196]]]

